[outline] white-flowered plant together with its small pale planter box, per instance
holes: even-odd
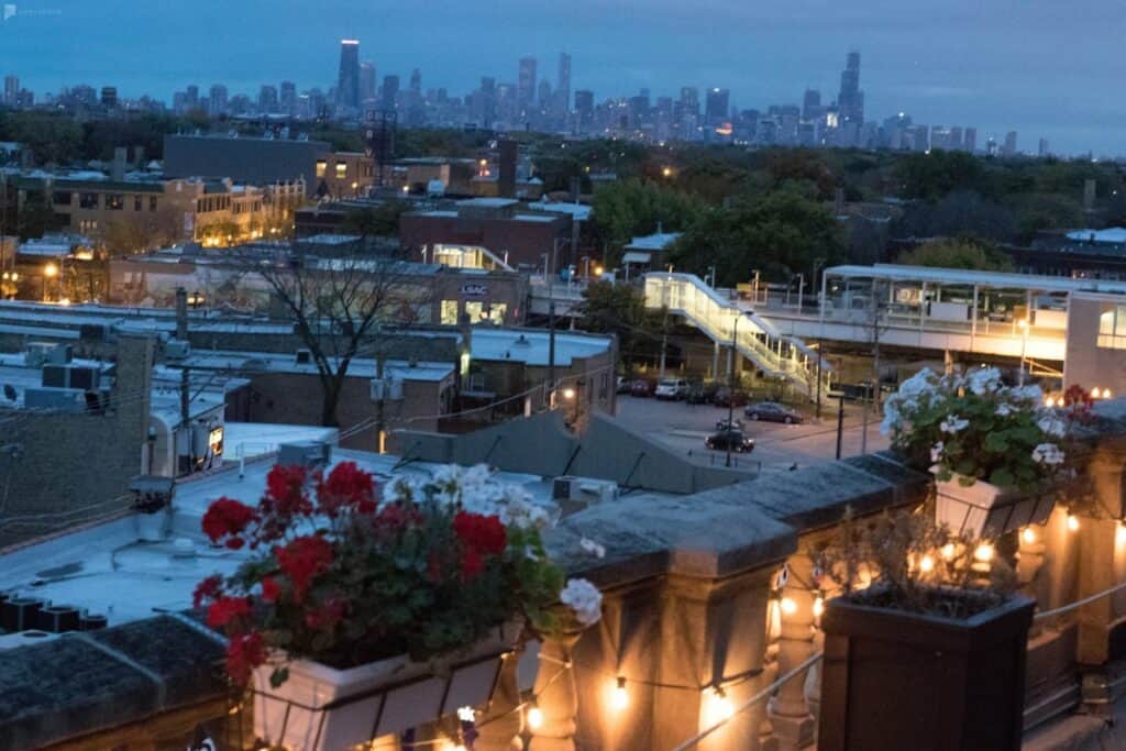
[[[903,382],[884,404],[882,430],[908,462],[936,479],[936,519],[997,537],[1052,512],[1069,422],[1038,386],[1009,387],[997,368]]]

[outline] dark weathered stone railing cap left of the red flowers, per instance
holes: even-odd
[[[223,638],[158,616],[0,652],[0,750],[37,749],[222,697]]]

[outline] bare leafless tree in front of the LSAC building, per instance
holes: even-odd
[[[251,262],[276,304],[294,323],[321,381],[321,422],[338,427],[337,408],[348,369],[358,357],[375,357],[378,377],[390,351],[386,325],[426,319],[431,279],[394,259],[351,250],[332,258],[302,256]]]

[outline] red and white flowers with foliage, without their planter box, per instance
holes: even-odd
[[[434,659],[513,619],[552,631],[561,602],[591,625],[601,597],[589,582],[564,582],[540,538],[548,521],[483,465],[383,489],[351,462],[327,474],[275,466],[257,507],[221,498],[208,508],[211,540],[251,557],[200,582],[195,605],[227,634],[236,682],[271,651],[350,668]],[[279,664],[271,681],[286,678]]]

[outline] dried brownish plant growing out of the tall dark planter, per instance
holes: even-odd
[[[844,512],[817,554],[822,571],[856,605],[968,618],[1001,605],[1017,579],[991,543],[957,535],[929,513]]]

